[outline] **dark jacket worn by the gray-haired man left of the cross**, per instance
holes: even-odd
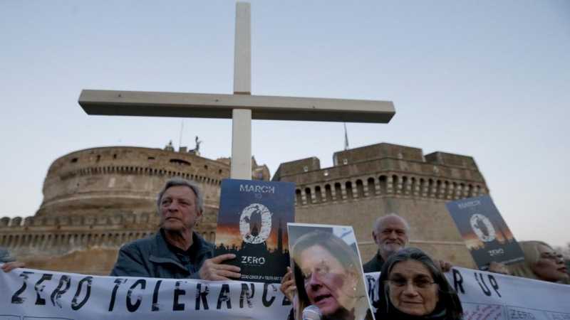
[[[182,265],[168,248],[160,230],[154,237],[143,238],[123,245],[117,263],[111,271],[113,277],[147,277],[170,279],[199,279],[198,271],[204,261],[214,257],[214,245],[197,233],[192,234],[192,246],[198,246],[196,261]]]

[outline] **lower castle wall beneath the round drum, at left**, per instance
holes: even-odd
[[[216,223],[204,223],[205,216],[195,230],[213,242]],[[33,269],[107,275],[119,248],[155,235],[159,223],[158,213],[4,217],[0,246]]]

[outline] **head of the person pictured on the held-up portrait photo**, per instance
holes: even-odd
[[[318,307],[321,319],[373,319],[358,255],[341,238],[314,231],[291,250],[297,289],[297,319]]]

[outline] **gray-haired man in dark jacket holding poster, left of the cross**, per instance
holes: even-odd
[[[119,250],[111,276],[229,280],[239,278],[239,267],[223,265],[234,254],[214,257],[214,245],[194,226],[204,212],[196,183],[170,178],[158,194],[160,229],[156,235],[130,242]]]

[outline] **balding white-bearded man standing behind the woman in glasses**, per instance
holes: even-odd
[[[410,225],[408,221],[395,213],[390,213],[376,219],[372,237],[378,245],[378,252],[372,260],[362,265],[364,272],[380,272],[384,262],[395,252],[408,247],[408,234]],[[440,265],[442,271],[447,272],[452,265],[443,260],[435,260]]]

